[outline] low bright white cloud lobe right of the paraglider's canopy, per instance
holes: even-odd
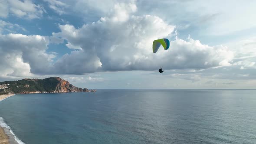
[[[231,65],[234,54],[226,46],[207,46],[199,40],[176,39],[171,42],[170,62],[176,69],[208,69]],[[170,68],[171,68],[170,67]]]

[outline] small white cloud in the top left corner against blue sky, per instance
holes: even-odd
[[[0,17],[7,17],[9,13],[26,19],[35,19],[43,16],[46,11],[39,4],[31,0],[0,0]]]

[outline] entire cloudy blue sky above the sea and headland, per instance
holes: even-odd
[[[0,0],[0,80],[255,88],[255,7],[254,0]],[[153,54],[160,38],[171,47]]]

